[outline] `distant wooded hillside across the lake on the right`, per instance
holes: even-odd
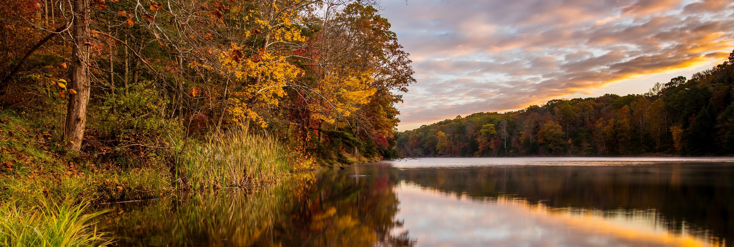
[[[643,95],[550,100],[396,136],[407,157],[734,155],[734,51]]]

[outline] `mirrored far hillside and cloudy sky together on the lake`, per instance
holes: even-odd
[[[403,181],[398,218],[418,246],[731,246],[732,163],[466,168],[437,160],[393,163]],[[426,218],[431,212],[451,216]]]

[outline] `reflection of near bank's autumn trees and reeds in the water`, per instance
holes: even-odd
[[[325,170],[254,193],[118,205],[101,223],[126,237],[120,246],[414,246],[407,232],[393,232],[402,224],[395,177],[374,171],[357,180]]]

